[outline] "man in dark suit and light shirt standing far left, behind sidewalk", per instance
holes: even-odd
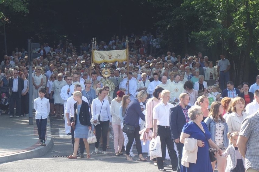
[[[21,115],[21,96],[24,88],[23,79],[18,77],[18,71],[13,71],[13,76],[9,78],[9,103],[10,113],[9,117],[14,116],[14,104],[16,103],[16,117]]]

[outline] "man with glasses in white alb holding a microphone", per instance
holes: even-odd
[[[66,111],[67,99],[72,96],[72,93],[74,90],[74,85],[72,84],[72,77],[68,76],[66,81],[67,81],[67,85],[62,87],[60,92],[60,97],[62,98],[62,100],[64,100],[64,112]],[[67,119],[65,117],[65,131],[67,135],[71,135],[70,127],[67,126],[67,120],[69,120],[69,118]]]

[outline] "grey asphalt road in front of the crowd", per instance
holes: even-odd
[[[51,117],[50,117],[51,118]],[[136,157],[132,161],[126,160],[125,155],[120,157],[114,156],[113,139],[110,139],[111,150],[108,155],[96,154],[94,152],[94,144],[90,145],[91,159],[78,158],[77,160],[67,159],[66,156],[73,153],[71,136],[67,136],[64,132],[64,120],[51,119],[51,130],[54,141],[54,147],[44,156],[19,160],[0,164],[0,172],[71,172],[71,171],[88,171],[88,172],[151,172],[158,171],[158,168],[153,165],[153,161],[146,162],[137,161],[136,147],[133,152]],[[101,150],[99,148],[99,150]],[[59,156],[59,157],[57,157]],[[146,157],[147,154],[143,154]],[[170,164],[167,161],[167,164]],[[166,171],[171,171],[171,166],[165,167]]]

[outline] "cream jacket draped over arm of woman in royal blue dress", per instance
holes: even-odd
[[[198,140],[195,138],[185,138],[181,164],[189,167],[189,163],[196,164],[198,153]]]

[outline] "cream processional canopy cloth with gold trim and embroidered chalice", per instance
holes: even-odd
[[[94,63],[112,63],[115,61],[127,61],[127,49],[113,51],[93,51]]]

